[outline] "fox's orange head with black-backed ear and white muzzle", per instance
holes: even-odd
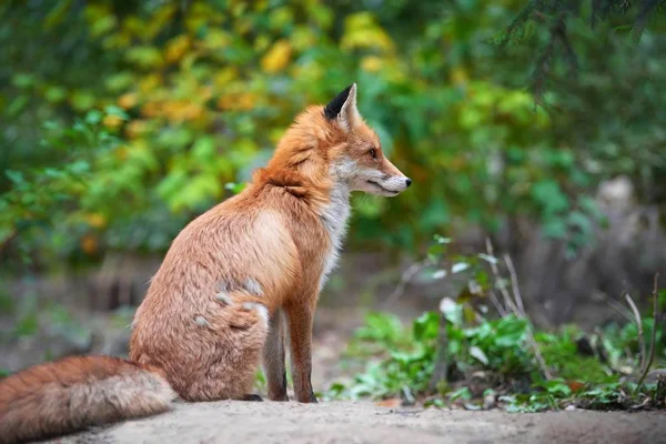
[[[384,196],[397,195],[412,184],[386,159],[380,138],[359,113],[355,83],[325,107],[310,107],[299,115],[268,167],[313,183]]]

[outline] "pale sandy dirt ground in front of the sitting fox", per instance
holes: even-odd
[[[402,410],[362,402],[215,402],[52,443],[666,443],[664,413],[507,414]]]

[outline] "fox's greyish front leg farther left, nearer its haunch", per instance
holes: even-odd
[[[269,336],[263,350],[263,365],[271,401],[289,401],[284,365],[284,313],[275,310],[269,324]]]

